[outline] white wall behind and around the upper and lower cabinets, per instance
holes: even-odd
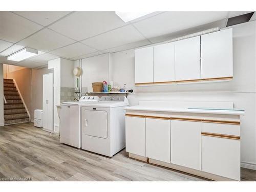
[[[245,110],[241,117],[242,166],[256,168],[256,74],[255,21],[233,27],[233,80],[229,82],[134,86],[134,50],[111,54],[111,78],[114,85],[134,93],[128,96],[131,105],[140,100],[233,101],[235,108]]]

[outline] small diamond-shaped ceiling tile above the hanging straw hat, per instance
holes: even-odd
[[[66,58],[73,58],[73,57],[77,57],[79,55],[93,53],[95,51],[97,51],[97,50],[90,48],[86,45],[83,45],[80,42],[76,42],[75,44],[51,51],[51,53],[60,55],[60,56],[66,57]]]

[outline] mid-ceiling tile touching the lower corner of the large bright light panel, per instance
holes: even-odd
[[[132,25],[128,25],[81,42],[95,49],[104,50],[144,39],[145,37]]]

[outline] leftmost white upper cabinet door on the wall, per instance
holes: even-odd
[[[153,47],[135,50],[135,83],[153,82]]]

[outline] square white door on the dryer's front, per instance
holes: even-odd
[[[85,135],[108,137],[108,113],[106,111],[84,110],[82,126]]]

